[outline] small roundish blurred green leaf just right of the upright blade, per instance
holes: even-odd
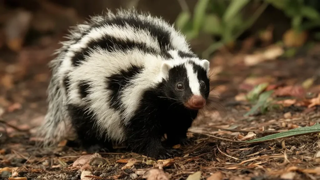
[[[215,14],[208,14],[204,20],[203,30],[210,34],[220,34],[222,27],[219,17]]]

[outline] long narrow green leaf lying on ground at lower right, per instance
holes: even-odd
[[[298,127],[295,129],[291,129],[289,131],[285,131],[285,132],[281,132],[273,135],[267,135],[257,139],[252,139],[251,141],[247,141],[247,143],[257,143],[257,142],[269,141],[269,140],[279,139],[284,137],[292,137],[292,136],[306,135],[306,134],[319,133],[319,132],[320,132],[320,124],[316,123],[313,126]]]

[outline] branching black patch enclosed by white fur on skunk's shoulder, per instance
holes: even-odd
[[[121,110],[121,95],[122,90],[130,83],[135,76],[140,74],[144,67],[132,65],[128,70],[121,70],[120,72],[106,77],[106,88],[111,90],[111,96],[108,101],[110,107]]]

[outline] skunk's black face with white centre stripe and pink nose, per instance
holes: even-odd
[[[194,62],[173,66],[168,71],[164,91],[167,98],[177,104],[192,110],[202,109],[210,91],[207,72]]]

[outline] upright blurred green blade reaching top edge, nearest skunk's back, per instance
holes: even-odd
[[[193,30],[196,34],[199,33],[202,27],[208,3],[209,0],[199,0],[196,4],[193,17]]]

